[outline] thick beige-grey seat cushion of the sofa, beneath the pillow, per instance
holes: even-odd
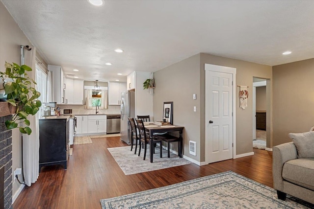
[[[283,167],[283,178],[293,184],[314,190],[314,158],[287,161]]]

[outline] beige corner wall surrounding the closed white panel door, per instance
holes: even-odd
[[[248,108],[239,108],[239,98],[236,95],[236,155],[253,151],[253,77],[265,78],[268,91],[272,88],[272,67],[245,62],[225,57],[200,53],[181,62],[154,73],[156,89],[154,93],[154,116],[161,119],[164,101],[174,102],[174,124],[183,125],[183,154],[199,162],[205,161],[205,64],[236,68],[235,85],[249,86]],[[236,88],[236,93],[239,89]],[[193,93],[197,99],[193,100]],[[267,98],[267,111],[271,113],[271,93]],[[197,112],[193,112],[196,106]],[[160,116],[159,118],[157,118]],[[269,117],[269,124],[271,122]],[[270,133],[271,129],[269,129]],[[270,136],[270,134],[269,134]],[[188,152],[188,141],[197,142],[197,156]]]

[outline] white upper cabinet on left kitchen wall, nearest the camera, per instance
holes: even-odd
[[[53,101],[57,104],[65,103],[65,77],[60,66],[48,65],[48,70],[52,72]]]

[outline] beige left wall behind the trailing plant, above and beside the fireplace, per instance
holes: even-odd
[[[0,70],[4,71],[4,63],[15,62],[21,64],[21,45],[29,45],[30,42],[0,2]],[[18,129],[12,131],[12,173],[17,167],[22,168],[22,139]],[[22,173],[23,174],[23,173]],[[19,175],[20,181],[24,181],[23,175]],[[13,177],[13,195],[20,184]]]

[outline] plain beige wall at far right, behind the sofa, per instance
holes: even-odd
[[[273,67],[273,145],[314,126],[314,59]]]

